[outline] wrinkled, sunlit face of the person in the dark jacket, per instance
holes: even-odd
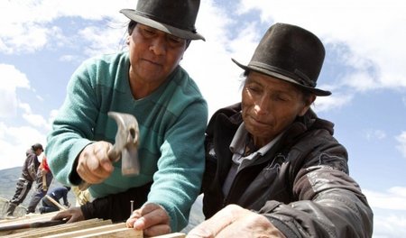
[[[243,119],[258,148],[271,142],[314,101],[305,103],[300,89],[278,78],[250,71],[243,87]]]

